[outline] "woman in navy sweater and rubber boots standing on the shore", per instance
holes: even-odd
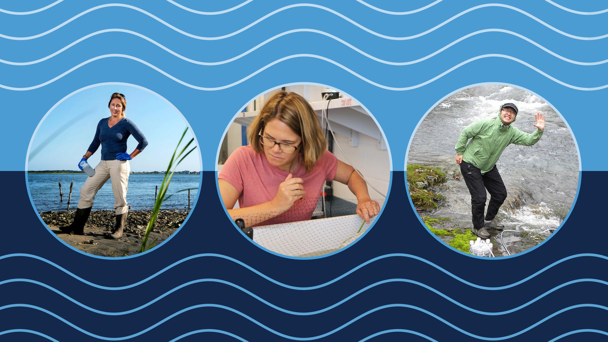
[[[114,192],[114,211],[116,212],[116,225],[109,237],[120,239],[125,228],[126,214],[129,207],[126,203],[126,184],[129,181],[131,167],[129,161],[139,155],[148,145],[146,137],[137,128],[133,121],[125,117],[126,100],[123,94],[114,92],[108,102],[110,116],[101,119],[97,124],[97,131],[93,142],[81,161],[86,161],[102,145],[102,160],[95,167],[95,175],[88,177],[80,189],[80,199],[74,217],[74,222],[69,226],[61,227],[61,231],[72,234],[84,234],[86,220],[89,219],[93,200],[97,191],[103,184],[112,180],[112,191]],[[137,147],[131,154],[126,153],[126,140],[133,136],[138,142]],[[82,170],[78,162],[78,168]]]

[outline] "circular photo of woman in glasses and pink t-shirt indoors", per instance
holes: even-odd
[[[388,145],[348,94],[271,89],[241,108],[218,151],[218,192],[243,236],[280,256],[320,257],[363,236],[390,188]]]

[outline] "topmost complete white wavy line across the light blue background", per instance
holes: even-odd
[[[519,12],[519,13],[522,13],[523,15],[528,16],[531,19],[534,19],[538,23],[541,23],[542,25],[548,27],[549,29],[553,30],[554,32],[558,32],[561,35],[564,35],[564,36],[570,37],[570,38],[574,38],[574,39],[578,39],[578,40],[599,40],[599,39],[603,39],[603,38],[608,37],[608,33],[605,34],[605,35],[597,36],[597,37],[581,37],[581,36],[571,35],[570,33],[565,33],[562,30],[556,29],[555,27],[553,27],[553,26],[545,23],[541,19],[536,18],[536,16],[533,16],[533,15],[531,15],[528,12],[520,10],[517,7],[513,7],[513,6],[510,6],[510,5],[504,5],[504,4],[483,4],[483,5],[477,5],[475,7],[471,7],[470,9],[464,10],[463,12],[460,12],[457,15],[452,16],[451,18],[447,19],[446,21],[443,21],[443,23],[438,24],[437,26],[432,27],[431,29],[428,29],[428,30],[426,30],[426,31],[424,31],[422,33],[418,33],[416,35],[411,35],[411,36],[407,36],[407,37],[392,37],[392,36],[382,35],[381,33],[375,32],[373,30],[368,29],[365,26],[362,26],[359,23],[356,23],[356,21],[353,21],[352,19],[348,18],[345,15],[342,15],[339,12],[336,12],[336,11],[334,11],[332,9],[328,9],[327,7],[323,7],[321,5],[316,5],[316,4],[293,4],[293,5],[288,5],[288,6],[285,6],[285,7],[281,7],[278,10],[274,10],[271,13],[268,13],[267,15],[264,15],[260,19],[257,19],[253,23],[251,23],[251,24],[243,27],[240,30],[236,30],[235,32],[228,33],[226,35],[222,35],[222,36],[218,36],[218,37],[202,37],[202,36],[198,36],[198,35],[193,35],[192,33],[188,33],[188,32],[185,32],[183,30],[178,29],[177,27],[174,27],[173,25],[167,23],[166,21],[162,20],[161,18],[158,18],[157,16],[151,14],[150,12],[147,12],[145,10],[139,9],[138,7],[135,7],[135,6],[125,5],[125,4],[105,4],[105,5],[98,5],[96,7],[92,7],[91,9],[85,10],[84,12],[81,12],[80,14],[75,15],[75,16],[73,16],[70,19],[67,19],[67,21],[64,21],[63,23],[59,24],[58,26],[55,26],[54,28],[49,29],[49,30],[47,30],[47,31],[45,31],[43,33],[39,33],[38,35],[33,35],[33,36],[29,36],[29,37],[12,37],[12,36],[8,36],[8,35],[0,34],[0,37],[1,38],[7,38],[7,39],[10,39],[10,40],[30,40],[30,39],[35,39],[35,38],[43,37],[44,35],[47,35],[47,34],[49,34],[51,32],[54,32],[57,29],[60,29],[61,27],[63,27],[67,23],[70,23],[74,19],[77,19],[80,16],[85,15],[86,13],[92,12],[92,11],[97,10],[97,9],[102,9],[104,7],[126,7],[128,9],[136,10],[136,11],[138,11],[140,13],[143,13],[143,14],[145,14],[147,16],[150,16],[150,18],[155,19],[159,23],[164,24],[165,26],[169,27],[170,29],[175,30],[176,32],[182,33],[183,35],[185,35],[187,37],[196,38],[198,40],[221,40],[221,39],[224,39],[224,38],[232,37],[234,35],[237,35],[238,33],[243,32],[244,30],[249,29],[250,27],[254,26],[255,24],[260,23],[264,19],[269,18],[272,15],[275,15],[276,13],[282,12],[282,11],[287,10],[287,9],[292,9],[292,8],[295,8],[295,7],[315,7],[317,9],[325,10],[327,12],[330,12],[330,13],[333,13],[334,15],[339,16],[342,19],[345,19],[346,21],[348,21],[349,23],[353,24],[354,26],[357,26],[360,29],[365,30],[365,32],[371,33],[371,34],[375,35],[376,37],[381,37],[381,38],[385,38],[385,39],[388,39],[388,40],[410,40],[410,39],[413,39],[413,38],[422,37],[422,36],[426,35],[427,33],[430,33],[430,32],[433,32],[434,30],[439,29],[441,26],[446,25],[447,23],[451,22],[452,20],[454,20],[454,19],[456,19],[456,18],[458,18],[460,16],[465,15],[466,13],[472,12],[472,11],[477,10],[477,9],[482,9],[484,7],[504,7],[506,9],[514,10],[516,12]]]

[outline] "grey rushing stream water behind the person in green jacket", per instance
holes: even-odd
[[[510,86],[477,86],[448,97],[420,124],[412,139],[409,164],[460,168],[454,156],[458,134],[474,120],[498,115],[500,105],[513,102],[519,107],[514,127],[531,133],[536,130],[534,114],[545,114],[545,131],[533,146],[509,145],[497,167],[508,191],[500,213],[508,229],[541,231],[557,228],[576,196],[578,153],[564,120],[551,106],[533,94]],[[463,180],[449,180],[447,203],[437,216],[470,223],[471,196]],[[488,195],[489,200],[489,195]]]

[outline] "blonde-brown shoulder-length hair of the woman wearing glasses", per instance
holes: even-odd
[[[311,172],[326,149],[325,136],[313,107],[295,92],[277,91],[272,94],[247,128],[249,144],[257,153],[264,153],[258,133],[272,119],[281,120],[302,138],[299,153],[306,173]]]

